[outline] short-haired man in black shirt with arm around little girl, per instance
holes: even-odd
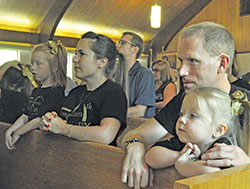
[[[177,48],[177,58],[181,64],[179,75],[185,91],[181,90],[154,118],[124,136],[122,144],[127,154],[123,162],[122,182],[135,188],[147,186],[149,169],[144,160],[145,146],[154,144],[168,132],[176,136],[175,125],[185,92],[206,86],[218,88],[228,94],[242,90],[250,99],[247,90],[230,85],[228,81],[227,72],[232,65],[233,56],[233,37],[222,25],[202,22],[183,30]],[[223,147],[217,147],[215,144],[202,159],[206,160],[208,166],[217,167],[249,163],[250,158],[239,149],[235,145],[223,144]]]

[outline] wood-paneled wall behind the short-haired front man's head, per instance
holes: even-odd
[[[213,0],[185,26],[202,21],[213,21],[224,25],[233,35],[238,52],[250,51],[250,16],[240,17],[240,0]],[[166,51],[176,51],[179,33],[174,36]]]

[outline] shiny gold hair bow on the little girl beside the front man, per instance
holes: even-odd
[[[248,103],[246,93],[244,93],[240,90],[237,90],[237,91],[233,92],[232,98],[233,98],[232,99],[232,114],[236,115],[236,116],[243,114],[245,109],[242,106],[242,104],[244,102]]]

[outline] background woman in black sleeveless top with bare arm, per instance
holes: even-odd
[[[155,109],[159,112],[176,95],[177,89],[167,61],[155,60],[152,63],[152,72],[155,77]]]

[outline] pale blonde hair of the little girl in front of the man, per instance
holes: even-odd
[[[237,124],[235,116],[231,112],[231,97],[224,91],[212,87],[197,87],[190,90],[187,95],[196,97],[199,111],[205,119],[209,119],[207,116],[208,112],[212,115],[212,118],[209,120],[211,125],[219,126],[220,124],[226,124],[228,126],[223,137],[226,137],[232,144],[236,145]],[[205,144],[202,152],[206,151],[215,140]]]

